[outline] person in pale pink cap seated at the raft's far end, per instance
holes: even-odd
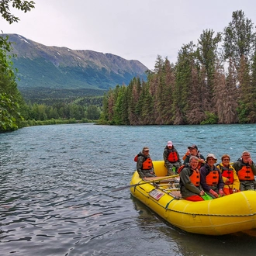
[[[175,175],[176,170],[182,165],[178,151],[171,141],[164,147],[164,166],[167,168],[167,175]]]

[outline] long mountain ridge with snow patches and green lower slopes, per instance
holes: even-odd
[[[17,34],[9,36],[12,43],[13,66],[19,71],[21,91],[80,90],[97,92],[119,85],[128,85],[134,77],[147,79],[147,67],[140,61],[127,61],[113,54],[93,50],[71,50],[47,47]]]

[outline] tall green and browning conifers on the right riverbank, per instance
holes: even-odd
[[[256,122],[256,34],[242,10],[223,32],[202,31],[175,64],[157,56],[147,81],[133,78],[103,99],[100,123],[116,125]]]

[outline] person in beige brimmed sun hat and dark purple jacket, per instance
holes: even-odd
[[[200,183],[202,189],[213,199],[225,195],[223,192],[224,182],[221,172],[214,165],[217,158],[214,154],[208,154],[206,164],[200,168]]]

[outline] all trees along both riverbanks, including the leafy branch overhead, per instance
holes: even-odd
[[[0,2],[2,18],[12,0]],[[17,2],[23,12],[33,1]],[[256,122],[256,33],[242,10],[223,32],[202,31],[197,43],[183,44],[177,61],[157,56],[147,81],[133,78],[105,95],[25,102],[12,67],[11,43],[0,36],[0,132],[23,126],[97,122],[108,125],[185,125]]]

